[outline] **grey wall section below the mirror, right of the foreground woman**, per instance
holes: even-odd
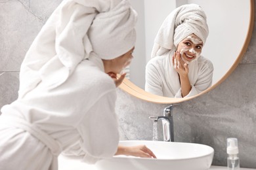
[[[231,49],[230,49],[231,50]],[[213,165],[226,165],[226,139],[238,138],[240,167],[256,168],[256,30],[235,71],[211,92],[173,106],[175,142],[215,149]],[[149,103],[118,90],[117,114],[122,140],[152,140],[148,116],[169,105]],[[158,126],[158,133],[162,133]],[[160,134],[161,135],[161,134]],[[161,138],[160,138],[161,140]]]

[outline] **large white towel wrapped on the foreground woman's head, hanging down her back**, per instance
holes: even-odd
[[[39,82],[63,84],[83,59],[114,59],[135,45],[137,13],[128,0],[64,0],[43,26],[20,69],[19,97]]]

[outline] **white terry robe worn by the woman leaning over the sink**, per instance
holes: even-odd
[[[99,61],[84,59],[62,85],[41,82],[1,109],[1,170],[55,170],[62,150],[89,163],[116,153],[116,84]]]

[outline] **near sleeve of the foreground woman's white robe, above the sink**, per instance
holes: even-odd
[[[96,101],[77,126],[81,140],[64,154],[79,156],[87,163],[116,154],[119,133],[115,102],[116,91],[105,93]]]

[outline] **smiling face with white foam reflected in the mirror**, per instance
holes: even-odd
[[[197,59],[203,48],[203,41],[194,34],[188,35],[185,39],[179,42],[177,51],[181,53],[181,58],[185,63],[190,63]]]

